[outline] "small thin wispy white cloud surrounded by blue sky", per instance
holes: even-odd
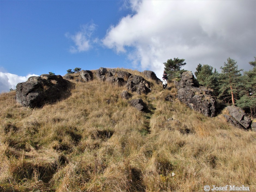
[[[80,31],[76,32],[75,35],[66,33],[65,36],[73,41],[75,44],[71,46],[69,51],[71,53],[78,53],[83,51],[88,51],[92,44],[97,42],[96,39],[92,39],[92,34],[96,30],[96,25],[94,23],[82,25]]]

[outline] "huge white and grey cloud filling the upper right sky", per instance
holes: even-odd
[[[256,53],[256,1],[130,1],[133,15],[111,26],[103,44],[160,77],[163,62],[185,59],[220,71],[228,57],[249,69]]]

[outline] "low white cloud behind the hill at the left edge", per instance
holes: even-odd
[[[11,73],[0,72],[0,93],[8,92],[10,89],[16,89],[18,83],[22,83],[28,80],[29,77],[39,76],[36,74],[29,74],[26,77],[18,76]]]

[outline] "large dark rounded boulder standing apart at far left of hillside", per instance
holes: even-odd
[[[16,101],[31,108],[41,107],[45,103],[56,102],[70,95],[71,82],[60,75],[43,74],[30,77],[16,86]]]

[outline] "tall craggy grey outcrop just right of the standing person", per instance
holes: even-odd
[[[190,71],[182,73],[181,80],[176,82],[177,98],[191,109],[201,112],[206,117],[213,117],[216,112],[216,101],[212,92],[199,86]]]

